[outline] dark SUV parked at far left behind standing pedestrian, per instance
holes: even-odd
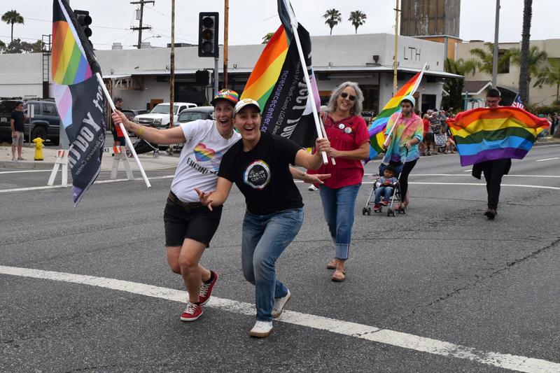
[[[29,121],[31,122],[31,139],[41,137],[53,143],[59,143],[60,116],[52,99],[10,99],[0,101],[0,136],[11,138],[10,116],[18,101],[23,101],[23,109],[29,115],[29,107],[34,106],[34,118],[26,120],[24,136],[29,138]]]

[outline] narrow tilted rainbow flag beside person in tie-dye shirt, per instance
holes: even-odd
[[[385,142],[385,127],[387,127],[387,122],[389,118],[391,118],[391,115],[400,112],[400,100],[402,100],[403,97],[416,92],[416,89],[422,80],[425,68],[426,66],[408,80],[405,85],[400,87],[397,94],[388,101],[375,120],[369,127],[367,127],[367,131],[370,132],[370,160],[379,153],[384,152],[383,143]]]

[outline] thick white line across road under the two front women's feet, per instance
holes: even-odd
[[[107,279],[96,276],[85,276],[81,274],[43,271],[41,269],[21,267],[6,267],[1,265],[0,274],[31,277],[33,279],[64,281],[68,283],[79,283],[82,285],[125,291],[127,293],[172,300],[174,302],[181,303],[186,303],[188,298],[187,293],[184,290],[161,288],[159,286],[147,285],[145,283]],[[254,304],[237,302],[235,300],[228,300],[225,298],[211,297],[207,307],[249,316],[255,314]],[[403,349],[472,360],[476,363],[493,365],[494,367],[500,367],[507,370],[528,373],[560,372],[560,364],[552,361],[527,358],[526,356],[515,356],[508,353],[482,351],[468,346],[443,342],[437,339],[396,332],[395,330],[379,329],[370,325],[350,323],[348,321],[302,314],[295,311],[283,311],[282,316],[276,320],[307,328],[326,330],[339,335],[366,339],[367,341],[390,344],[391,346],[402,347]]]

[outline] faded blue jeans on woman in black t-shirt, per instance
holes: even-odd
[[[245,213],[241,267],[245,279],[255,286],[258,321],[272,321],[274,298],[288,294],[288,288],[276,279],[276,259],[300,232],[302,223],[303,209],[269,215]]]

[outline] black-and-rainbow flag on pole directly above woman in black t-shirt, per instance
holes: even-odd
[[[278,0],[282,25],[262,50],[249,77],[241,99],[258,101],[262,108],[261,130],[287,137],[304,147],[315,145],[317,137],[313,108],[321,106],[313,69],[311,69],[311,38],[297,24],[288,0]],[[297,24],[306,66],[302,66],[292,24]],[[315,102],[308,98],[303,69],[307,69]]]

